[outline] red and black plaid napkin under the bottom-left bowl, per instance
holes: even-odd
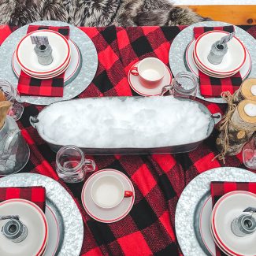
[[[34,202],[45,212],[45,187],[0,187],[0,202],[13,198],[22,198]]]

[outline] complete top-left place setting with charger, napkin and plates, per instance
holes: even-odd
[[[98,68],[91,39],[61,21],[45,20],[18,28],[2,43],[0,56],[0,77],[8,74],[21,101],[36,105],[80,95]]]

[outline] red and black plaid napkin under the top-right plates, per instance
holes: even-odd
[[[224,27],[198,27],[194,28],[195,39],[198,39],[200,35],[205,32],[209,32],[212,30],[222,30],[225,32],[233,32],[233,26],[224,26]],[[242,78],[240,72],[237,72],[234,76],[226,77],[226,78],[215,78],[212,76],[207,76],[200,70],[199,80],[200,80],[200,93],[205,97],[221,97],[222,91],[230,91],[233,94],[236,90],[239,89]]]

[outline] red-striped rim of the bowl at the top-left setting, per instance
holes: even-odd
[[[61,38],[65,40],[65,43],[66,43],[66,45],[68,46],[68,54],[67,54],[67,57],[65,58],[65,61],[64,61],[60,66],[58,66],[58,68],[53,69],[53,70],[50,70],[50,71],[47,71],[47,72],[37,72],[37,71],[33,71],[33,70],[31,70],[31,69],[26,68],[26,67],[20,62],[20,58],[19,58],[19,56],[18,56],[18,51],[19,51],[19,48],[20,48],[20,44],[24,41],[24,39],[26,39],[28,36],[30,36],[30,35],[32,35],[32,34],[34,34],[34,33],[36,33],[36,32],[50,32],[50,33],[54,33],[54,34],[57,34],[57,35],[61,36]],[[24,36],[23,39],[20,40],[20,43],[18,43],[18,45],[17,45],[17,50],[16,50],[16,57],[17,57],[17,61],[18,61],[19,65],[20,65],[23,69],[27,70],[28,72],[33,72],[33,73],[37,73],[37,74],[47,74],[47,73],[49,73],[49,72],[54,72],[54,71],[56,71],[56,70],[58,70],[58,69],[61,69],[61,67],[62,67],[63,65],[65,65],[65,62],[68,60],[69,56],[70,56],[69,41],[65,38],[65,36],[61,35],[61,34],[58,33],[58,32],[54,32],[53,30],[50,30],[50,29],[36,30],[36,31],[34,31],[34,32],[28,33],[27,35]]]

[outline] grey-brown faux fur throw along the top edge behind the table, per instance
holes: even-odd
[[[169,0],[0,0],[0,24],[61,20],[76,26],[152,26],[204,20]]]

